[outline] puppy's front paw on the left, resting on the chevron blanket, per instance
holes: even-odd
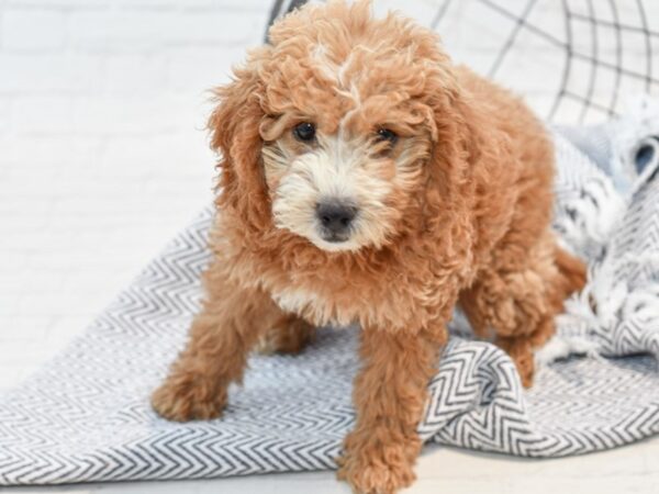
[[[208,379],[192,373],[169,375],[152,395],[158,415],[175,422],[216,418],[225,404],[224,386],[210,385]]]

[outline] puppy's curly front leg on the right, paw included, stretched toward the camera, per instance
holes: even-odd
[[[354,389],[357,423],[345,440],[338,471],[357,492],[391,494],[414,480],[421,450],[416,428],[445,343],[443,325],[418,332],[362,330],[364,367]]]

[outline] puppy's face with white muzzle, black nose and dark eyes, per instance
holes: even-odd
[[[275,225],[325,250],[380,247],[413,200],[428,133],[410,125],[404,104],[337,92],[327,85],[320,96],[333,108],[287,112],[261,126]]]

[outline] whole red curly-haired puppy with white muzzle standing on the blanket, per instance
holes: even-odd
[[[217,417],[255,346],[294,352],[313,326],[359,323],[339,478],[393,493],[414,479],[456,304],[529,385],[533,349],[583,283],[549,231],[552,147],[522,101],[367,2],[304,7],[270,40],[216,92],[214,261],[153,404],[174,420]]]

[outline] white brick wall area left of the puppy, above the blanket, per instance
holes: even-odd
[[[0,0],[0,389],[54,355],[211,198],[208,89],[257,0]]]

